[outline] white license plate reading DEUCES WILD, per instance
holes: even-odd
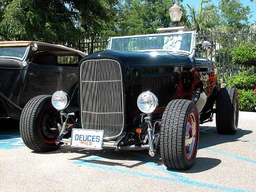
[[[71,146],[102,149],[103,130],[72,129]]]

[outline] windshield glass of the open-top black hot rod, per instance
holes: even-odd
[[[162,33],[156,35],[121,36],[111,38],[109,49],[113,51],[191,52],[193,32]]]

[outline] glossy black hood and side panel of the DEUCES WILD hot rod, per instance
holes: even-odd
[[[211,74],[212,61],[193,58],[185,54],[166,52],[123,52],[103,51],[86,56],[86,60],[111,59],[122,67],[125,88],[125,123],[127,129],[140,125],[141,111],[137,107],[140,93],[150,91],[159,99],[159,107],[153,113],[154,118],[161,119],[168,102],[173,99],[192,99],[197,87],[204,89],[201,74]],[[196,76],[200,74],[200,76]],[[216,86],[216,85],[214,85]],[[211,90],[209,90],[211,95]],[[209,97],[208,95],[208,97]],[[214,92],[215,99],[215,92]],[[212,102],[207,109],[212,109]],[[206,110],[206,109],[205,109]],[[206,116],[207,117],[207,116]]]

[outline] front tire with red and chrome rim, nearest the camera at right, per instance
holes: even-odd
[[[160,151],[164,165],[187,170],[195,163],[199,138],[198,111],[191,100],[172,100],[161,122]]]

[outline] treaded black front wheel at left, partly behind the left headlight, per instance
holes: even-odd
[[[28,148],[37,152],[49,152],[56,145],[60,114],[51,104],[50,95],[40,95],[29,100],[20,116],[20,134]],[[52,129],[53,128],[53,129]]]

